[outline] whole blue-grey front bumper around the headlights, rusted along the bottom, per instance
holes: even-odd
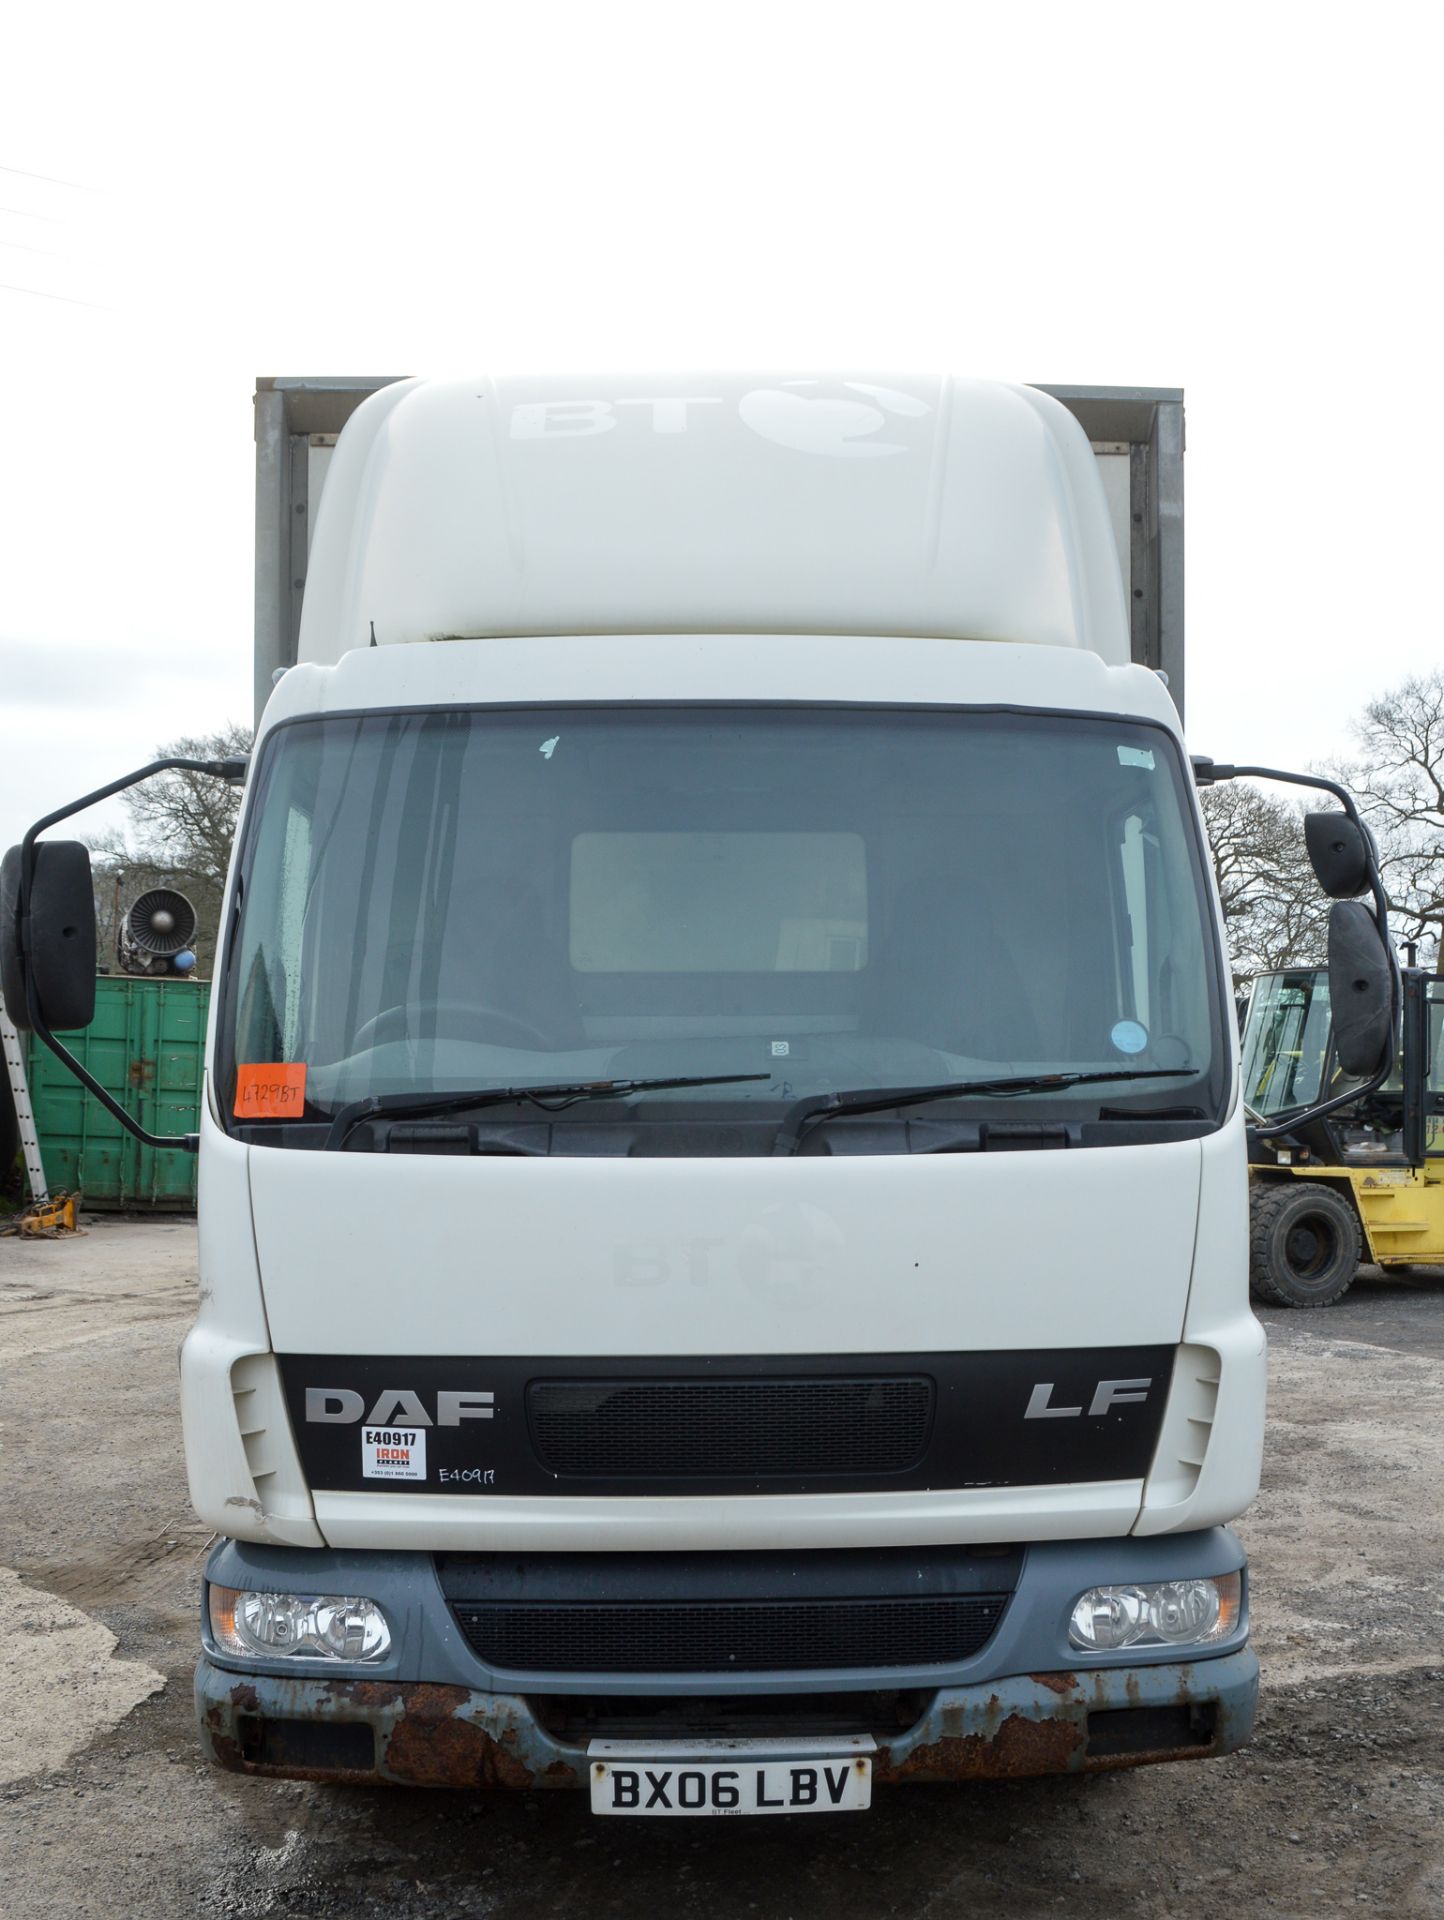
[[[455,1788],[582,1788],[591,1738],[689,1740],[866,1732],[876,1778],[989,1780],[1093,1772],[1146,1761],[1204,1759],[1244,1745],[1258,1661],[1248,1596],[1217,1649],[1093,1653],[1068,1642],[1077,1594],[1129,1580],[1240,1571],[1225,1528],[1162,1540],[1035,1542],[1010,1551],[958,1548],[860,1555],[474,1555],[303,1551],[221,1542],[207,1582],[282,1592],[363,1594],[392,1626],[369,1672],[301,1670],[236,1659],[205,1624],[196,1709],[209,1757],[234,1772]],[[492,1596],[517,1605],[563,1599],[645,1607],[876,1599],[899,1590],[1006,1590],[989,1638],[951,1663],[728,1670],[545,1670],[488,1667],[453,1603]],[[699,1628],[705,1630],[705,1628]],[[762,1724],[762,1722],[768,1724]]]

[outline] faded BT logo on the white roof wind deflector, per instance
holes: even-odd
[[[814,392],[824,388],[826,392]],[[630,399],[528,399],[511,409],[513,440],[590,440],[636,420],[653,434],[686,434],[703,409],[726,407],[718,394],[666,394]],[[933,409],[916,394],[870,380],[783,380],[737,397],[737,419],[760,440],[793,453],[870,461],[906,453],[901,440],[878,434]]]

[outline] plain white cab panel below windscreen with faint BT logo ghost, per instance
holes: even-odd
[[[578,1160],[252,1150],[278,1354],[1175,1342],[1198,1142]]]

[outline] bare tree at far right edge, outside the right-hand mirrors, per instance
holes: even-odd
[[[1396,931],[1444,970],[1444,670],[1369,701],[1354,737],[1338,776],[1379,841]]]

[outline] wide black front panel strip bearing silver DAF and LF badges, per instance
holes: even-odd
[[[386,1501],[476,1501],[488,1490],[511,1498],[772,1496],[1143,1480],[1175,1359],[1173,1346],[605,1359],[278,1356],[305,1478]],[[1118,1402],[1106,1421],[1027,1419],[1039,1380],[1052,1382],[1050,1405],[1087,1407],[1098,1380],[1131,1379],[1152,1386]],[[392,1405],[397,1380],[436,1419],[426,1430],[426,1478],[367,1476],[359,1421],[309,1417],[317,1394],[346,1396],[340,1405],[355,1405],[355,1396],[363,1407],[378,1398]],[[440,1396],[451,1413],[457,1394],[467,1417],[442,1425]],[[480,1409],[492,1419],[472,1417]],[[597,1597],[641,1596],[605,1590]]]

